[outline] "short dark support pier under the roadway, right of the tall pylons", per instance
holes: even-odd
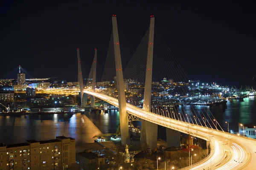
[[[180,147],[180,132],[166,127],[167,147]]]

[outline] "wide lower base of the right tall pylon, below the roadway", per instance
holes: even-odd
[[[140,133],[140,143],[142,146],[147,146],[151,150],[157,147],[157,124],[142,120]]]

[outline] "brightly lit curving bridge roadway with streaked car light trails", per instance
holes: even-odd
[[[118,107],[118,99],[92,91],[84,91],[84,93],[96,96]],[[256,162],[256,140],[254,139],[146,112],[128,103],[126,106],[128,113],[148,122],[209,141],[211,144],[210,155],[203,161],[192,165],[192,170],[256,170],[254,164]],[[183,169],[189,170],[191,167]]]

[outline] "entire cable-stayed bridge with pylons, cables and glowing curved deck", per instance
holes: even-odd
[[[91,107],[94,107],[95,97],[118,107],[122,144],[130,143],[128,117],[131,116],[129,115],[142,119],[141,144],[148,145],[151,149],[157,147],[157,125],[166,127],[167,143],[172,146],[179,143],[180,132],[205,140],[206,146],[211,150],[209,156],[198,164],[184,169],[256,169],[254,167],[256,140],[224,132],[209,111],[178,107],[180,98],[194,94],[187,87],[186,74],[168,46],[158,32],[155,34],[154,16],[151,16],[148,31],[135,51],[130,45],[127,45],[128,48],[121,46],[122,42],[127,43],[127,40],[122,37],[122,32],[117,27],[116,15],[112,16],[112,26],[113,31],[101,82],[105,88],[95,88],[97,58],[95,49],[89,75],[92,81],[88,81],[84,89],[79,49],[77,50],[81,105],[87,105],[87,95],[90,95]],[[157,51],[156,55],[153,51]],[[122,62],[121,54],[122,57],[130,56],[130,62]],[[157,65],[154,66],[154,63]],[[124,64],[125,70],[122,67]],[[172,80],[157,83],[157,78],[161,76],[171,76],[175,83]]]

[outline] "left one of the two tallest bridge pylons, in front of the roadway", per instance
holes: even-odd
[[[121,142],[122,145],[130,144],[130,135],[128,121],[126,119],[126,101],[125,101],[125,85],[122,73],[122,62],[120,54],[120,44],[117,29],[116,15],[112,16],[113,26],[113,40],[114,40],[114,51],[115,51],[115,63],[116,63],[116,82],[118,91],[118,108],[119,108],[119,121],[121,131]]]

